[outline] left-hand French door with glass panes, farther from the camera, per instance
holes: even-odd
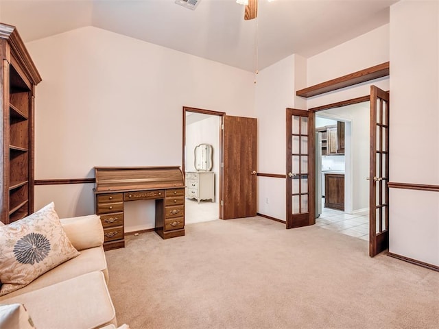
[[[287,108],[287,228],[316,223],[313,112]]]

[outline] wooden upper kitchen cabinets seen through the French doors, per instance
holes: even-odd
[[[316,128],[322,134],[322,156],[344,154],[344,122]]]

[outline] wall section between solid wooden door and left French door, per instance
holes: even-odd
[[[295,56],[289,56],[259,72],[256,84],[259,173],[285,175],[285,111],[294,107]],[[286,220],[286,182],[283,178],[258,177],[257,211]]]

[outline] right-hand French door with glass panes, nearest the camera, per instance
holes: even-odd
[[[369,255],[389,246],[389,93],[370,87]]]

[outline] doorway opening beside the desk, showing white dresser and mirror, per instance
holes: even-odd
[[[224,113],[183,108],[183,158],[186,224],[220,218]]]

